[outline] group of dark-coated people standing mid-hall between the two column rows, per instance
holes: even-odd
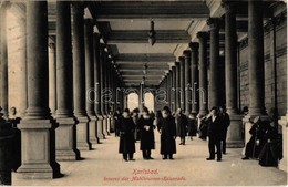
[[[217,147],[217,160],[222,160],[222,154],[226,154],[226,136],[230,120],[224,107],[213,107],[206,116],[195,117],[193,114],[186,116],[181,108],[172,114],[167,106],[157,111],[154,115],[144,106],[141,112],[133,110],[130,113],[130,110],[125,108],[121,113],[121,110],[117,110],[114,120],[115,135],[120,136],[119,153],[123,154],[123,159],[126,162],[135,160],[134,153],[137,138],[140,139],[143,159],[153,159],[151,150],[155,149],[154,129],[156,128],[161,134],[160,149],[163,159],[174,159],[176,137],[181,138],[179,145],[185,145],[186,136],[193,139],[197,132],[199,132],[200,138],[209,137],[209,157],[207,160],[215,159],[215,146]],[[204,128],[206,128],[206,132],[204,132]]]

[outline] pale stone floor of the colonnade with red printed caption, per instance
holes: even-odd
[[[207,142],[187,139],[177,145],[174,160],[162,160],[158,133],[153,160],[143,160],[136,143],[135,162],[123,162],[117,153],[119,138],[107,136],[93,150],[82,152],[82,160],[61,162],[62,178],[53,180],[18,180],[17,186],[277,186],[287,185],[287,173],[261,167],[257,160],[241,160],[241,149],[228,149],[223,162],[207,162]],[[177,139],[177,143],[179,139]],[[134,174],[135,170],[155,174]]]

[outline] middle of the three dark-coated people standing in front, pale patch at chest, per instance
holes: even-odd
[[[151,149],[155,148],[153,118],[148,114],[147,107],[143,107],[142,115],[137,122],[140,129],[140,149],[144,159],[153,159]]]

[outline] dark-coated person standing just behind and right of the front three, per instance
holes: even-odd
[[[182,113],[182,108],[177,110],[175,115],[176,117],[176,126],[177,126],[177,136],[181,137],[179,145],[185,145],[185,136],[187,134],[187,117]]]

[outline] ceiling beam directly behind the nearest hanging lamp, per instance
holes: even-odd
[[[148,31],[112,31],[106,35],[107,44],[147,43]],[[156,31],[157,43],[188,43],[191,37],[183,30]]]

